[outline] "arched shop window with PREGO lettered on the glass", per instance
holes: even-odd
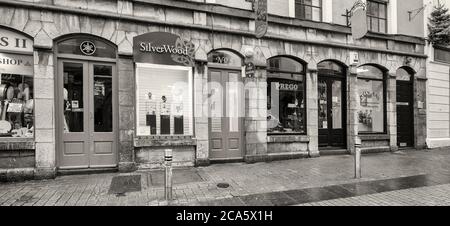
[[[268,64],[267,132],[305,134],[304,66],[287,57],[272,58]]]

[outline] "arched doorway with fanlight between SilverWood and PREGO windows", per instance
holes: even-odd
[[[242,57],[229,50],[208,54],[209,158],[241,161],[244,155]]]

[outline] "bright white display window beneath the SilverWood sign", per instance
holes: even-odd
[[[137,64],[137,135],[193,134],[192,68]]]

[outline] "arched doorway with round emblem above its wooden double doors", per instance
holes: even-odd
[[[59,169],[117,166],[117,48],[90,35],[56,43]]]

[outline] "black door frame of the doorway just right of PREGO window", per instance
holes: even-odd
[[[321,150],[338,150],[338,149],[348,149],[348,141],[347,141],[347,135],[348,133],[348,126],[347,126],[347,114],[349,112],[349,108],[347,106],[347,86],[348,86],[348,79],[347,79],[347,71],[348,69],[344,66],[342,66],[341,64],[337,63],[339,66],[341,66],[341,68],[343,69],[343,73],[342,75],[336,75],[336,74],[320,74],[320,71],[317,72],[317,87],[319,86],[319,79],[324,78],[325,80],[327,80],[327,92],[328,92],[328,81],[330,80],[336,80],[336,81],[341,81],[341,99],[342,99],[342,131],[344,131],[343,136],[343,143],[344,145],[342,147],[338,147],[338,146],[320,146],[320,142],[318,143],[318,148],[319,148],[319,152]],[[319,95],[319,93],[317,92],[317,95]],[[327,93],[327,98],[328,98],[328,93]],[[317,103],[318,104],[318,103]],[[327,105],[327,116],[329,115],[328,112],[328,108],[329,108],[329,104]],[[319,112],[317,111],[317,114],[319,114]],[[328,121],[328,120],[327,120]],[[319,130],[321,130],[320,128],[317,128],[317,131],[319,133]],[[329,130],[329,127],[328,127]],[[328,136],[330,136],[328,134]],[[329,139],[329,138],[328,138]],[[328,141],[328,144],[330,143],[330,141]]]

